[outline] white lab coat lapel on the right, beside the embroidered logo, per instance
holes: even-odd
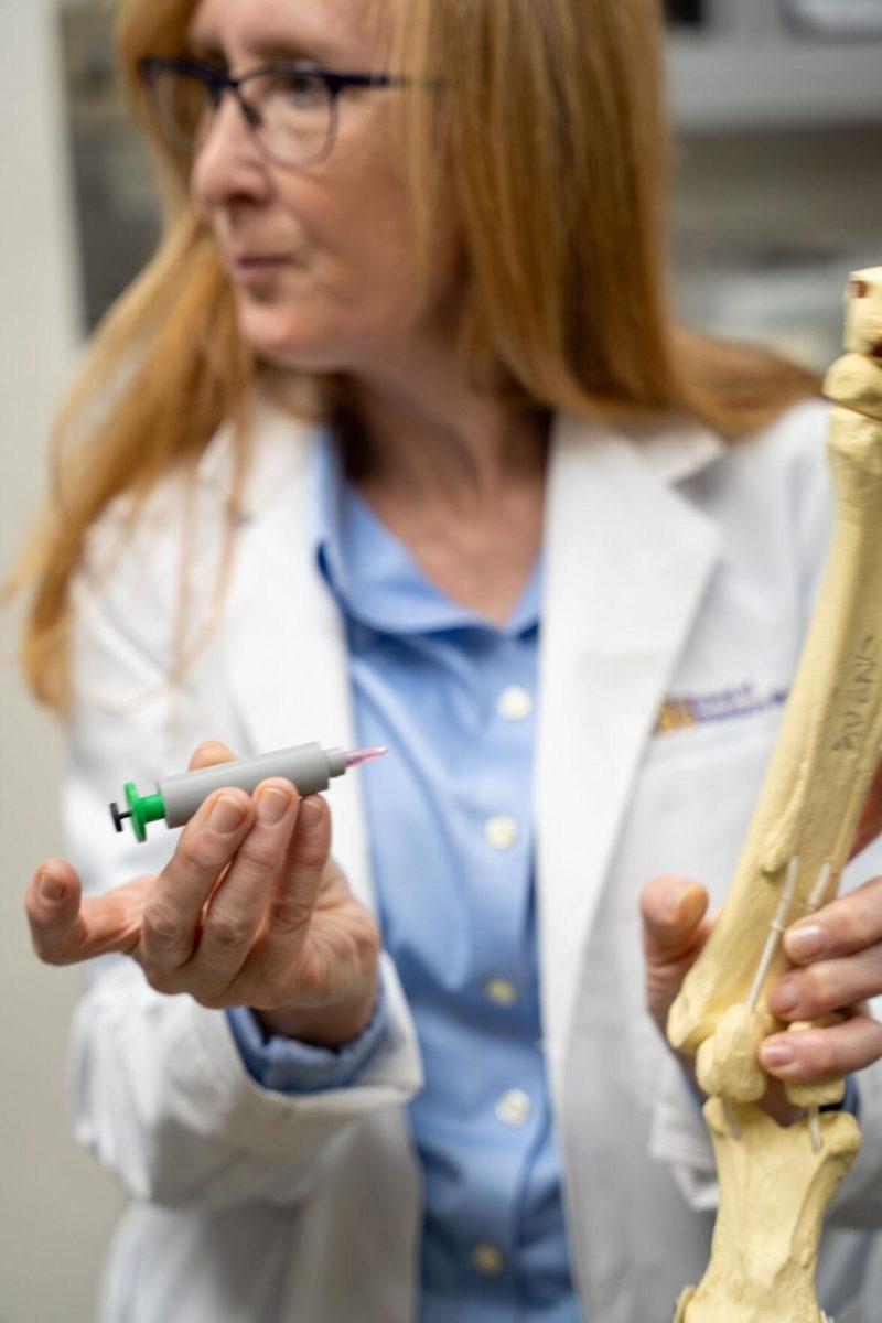
[[[555,426],[537,751],[542,1013],[555,1085],[639,759],[717,561],[714,527],[672,476],[719,450],[697,430],[656,445],[566,414]]]

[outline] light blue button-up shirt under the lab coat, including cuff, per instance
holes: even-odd
[[[316,454],[315,553],[345,622],[378,919],[419,1037],[422,1323],[578,1323],[541,1052],[532,778],[541,564],[504,627],[451,601]],[[279,1089],[357,1077],[339,1053],[230,1023]]]

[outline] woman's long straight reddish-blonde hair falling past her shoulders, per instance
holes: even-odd
[[[254,388],[278,380],[238,332],[185,165],[155,138],[138,82],[144,54],[182,49],[193,8],[120,0],[118,11],[119,66],[152,143],[165,226],[61,411],[50,508],[12,581],[32,587],[25,673],[60,708],[71,576],[90,527],[120,493],[135,520],[157,480],[192,468],[229,422],[231,531]],[[735,439],[819,384],[764,351],[693,333],[670,311],[661,44],[657,0],[402,0],[393,67],[450,90],[401,94],[414,242],[424,257],[443,169],[461,220],[461,351],[480,389],[590,417],[681,413]],[[333,394],[327,381],[301,385],[304,411]]]

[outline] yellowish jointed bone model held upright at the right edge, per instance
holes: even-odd
[[[824,1212],[861,1146],[842,1081],[789,1085],[784,1129],[756,1102],[756,1049],[784,1027],[766,1005],[783,930],[838,888],[882,742],[882,267],[846,292],[842,359],[824,393],[836,524],[824,581],[729,897],[668,1020],[697,1053],[719,1175],[711,1259],[674,1323],[825,1323],[815,1289]],[[792,1025],[805,1028],[805,1024]]]

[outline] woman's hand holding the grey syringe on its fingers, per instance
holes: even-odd
[[[231,757],[209,741],[190,769]],[[83,900],[70,864],[37,869],[25,901],[34,950],[49,964],[122,951],[159,992],[253,1007],[267,1029],[336,1046],[370,1017],[381,942],[329,851],[319,795],[300,800],[276,778],[253,796],[214,791],[161,873]]]

